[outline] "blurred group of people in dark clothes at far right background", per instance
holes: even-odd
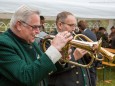
[[[97,40],[102,39],[102,47],[115,49],[115,27],[112,26],[110,28],[110,34],[108,34],[106,28],[99,27],[96,29],[92,29],[92,31],[96,34]]]

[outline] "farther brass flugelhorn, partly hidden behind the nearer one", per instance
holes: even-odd
[[[77,39],[77,38],[80,38],[80,37],[83,38],[83,39],[85,39],[88,42],[93,42],[90,38],[88,38],[87,36],[85,36],[83,34],[76,34],[74,36],[74,39]],[[104,60],[104,57],[106,57],[107,59],[109,59],[109,62],[113,62],[114,61],[115,54],[107,51],[103,47],[99,46],[97,52],[100,53],[103,56],[103,58],[99,59],[98,57],[96,57],[96,60],[102,61],[102,60]]]

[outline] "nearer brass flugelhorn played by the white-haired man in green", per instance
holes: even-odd
[[[46,49],[47,49],[47,44],[50,43],[50,41],[54,38],[55,36],[52,36],[50,35],[49,37],[46,37],[42,40],[42,48],[43,48],[43,51],[45,52]],[[81,67],[90,67],[90,65],[93,63],[94,59],[95,59],[95,56],[94,56],[94,52],[97,50],[97,46],[99,47],[101,45],[101,42],[102,41],[99,41],[99,42],[83,42],[83,41],[79,41],[79,40],[71,40],[69,41],[64,48],[62,48],[62,52],[65,54],[64,58],[61,58],[60,60],[63,61],[63,62],[66,62],[66,63],[70,63],[70,64],[73,64],[75,66],[81,66]],[[49,45],[50,46],[50,45]],[[89,55],[92,57],[91,58],[91,61],[86,64],[86,65],[83,65],[83,64],[79,64],[77,62],[73,62],[73,61],[70,61],[70,59],[67,58],[68,56],[68,49],[70,46],[73,46],[75,48],[81,48],[81,49],[84,49],[84,50],[87,50],[89,51]]]

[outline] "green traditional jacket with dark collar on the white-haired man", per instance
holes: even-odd
[[[0,35],[0,86],[38,86],[51,71],[55,65],[35,42],[28,44],[10,29]]]

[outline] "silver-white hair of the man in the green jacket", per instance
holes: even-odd
[[[25,21],[25,22],[30,21],[29,17],[32,14],[40,15],[40,12],[37,9],[30,8],[26,5],[20,6],[10,20],[10,28],[11,29],[15,28],[15,25],[18,21]]]

